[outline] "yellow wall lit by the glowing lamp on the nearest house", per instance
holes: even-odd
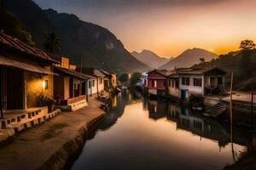
[[[51,67],[45,67],[46,70],[51,71]],[[43,82],[48,81],[48,88],[43,88]],[[30,71],[24,71],[25,81],[25,96],[26,96],[26,108],[32,108],[38,106],[38,99],[41,95],[49,98],[53,98],[54,84],[53,75],[40,75]]]

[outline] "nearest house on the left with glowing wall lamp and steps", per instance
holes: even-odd
[[[44,51],[0,33],[0,128],[20,131],[60,112],[42,102],[53,98],[57,63]]]

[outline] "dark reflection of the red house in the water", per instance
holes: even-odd
[[[166,102],[158,102],[155,100],[148,100],[148,116],[154,120],[166,117],[168,111],[168,104]]]

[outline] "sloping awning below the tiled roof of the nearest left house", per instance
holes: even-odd
[[[51,74],[51,75],[54,74],[52,71],[47,71],[46,69],[44,69],[43,66],[32,65],[30,63],[18,61],[15,59],[10,59],[1,54],[0,54],[0,65],[11,66],[11,67],[23,69],[25,71],[32,71],[32,72],[37,72],[41,74]]]

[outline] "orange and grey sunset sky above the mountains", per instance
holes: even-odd
[[[256,41],[256,0],[34,0],[108,28],[129,51],[175,57],[187,48],[216,54]]]

